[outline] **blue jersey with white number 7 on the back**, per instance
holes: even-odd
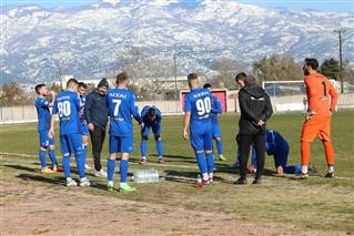
[[[111,89],[107,91],[105,98],[111,117],[110,134],[113,136],[132,136],[132,115],[139,124],[142,123],[135,107],[134,94],[124,89]]]

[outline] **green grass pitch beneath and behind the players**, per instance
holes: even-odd
[[[95,183],[87,188],[85,194],[110,196],[136,202],[154,203],[189,209],[224,212],[244,223],[276,223],[294,226],[300,229],[321,229],[333,232],[354,232],[354,111],[343,110],[334,113],[332,120],[332,141],[335,148],[335,172],[333,179],[324,178],[326,173],[325,156],[322,143],[312,144],[311,163],[317,168],[310,179],[294,181],[273,175],[273,158],[266,156],[266,170],[261,186],[235,186],[232,182],[239,176],[236,170],[229,167],[235,161],[239,115],[220,116],[225,162],[216,161],[215,184],[198,191],[193,185],[198,175],[196,162],[189,141],[182,138],[182,116],[166,116],[162,120],[165,163],[158,164],[153,136],[149,140],[148,164],[139,165],[140,134],[134,125],[134,153],[131,156],[130,174],[135,168],[159,170],[165,182],[158,184],[136,184],[136,193],[111,194],[105,192],[105,179],[94,177],[89,171],[89,178]],[[267,126],[279,131],[290,143],[289,164],[299,164],[300,135],[304,115],[300,113],[274,114]],[[58,122],[57,122],[58,125]],[[59,132],[57,129],[57,156],[59,151]],[[0,164],[1,181],[16,184],[31,184],[21,176],[40,176],[37,157],[37,123],[0,125]],[[91,150],[91,146],[89,146]],[[105,167],[108,156],[108,136],[102,152],[102,164]],[[60,157],[59,157],[60,158]],[[73,160],[73,158],[72,158]],[[59,160],[61,162],[61,158]],[[50,162],[48,160],[48,162]],[[91,152],[88,163],[93,166]],[[72,161],[72,170],[74,162]],[[118,183],[118,165],[114,179]],[[73,177],[77,177],[73,174]],[[251,182],[252,177],[249,177]],[[39,184],[64,187],[63,174],[45,175],[36,178]],[[143,197],[142,197],[143,196]],[[294,217],[301,216],[301,217]]]

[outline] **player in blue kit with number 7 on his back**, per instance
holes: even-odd
[[[108,191],[113,191],[113,174],[117,153],[121,153],[120,161],[120,187],[119,191],[135,191],[127,183],[129,170],[129,154],[133,152],[133,124],[132,115],[143,129],[142,120],[135,107],[135,96],[128,90],[129,79],[127,73],[117,75],[117,89],[107,91],[107,103],[110,115],[110,156],[107,162]]]

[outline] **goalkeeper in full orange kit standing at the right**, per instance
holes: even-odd
[[[301,135],[302,172],[297,178],[307,178],[310,144],[318,136],[323,143],[328,171],[325,177],[334,177],[334,151],[331,142],[331,116],[337,102],[337,93],[326,76],[318,73],[316,59],[305,59],[304,74],[309,107]]]

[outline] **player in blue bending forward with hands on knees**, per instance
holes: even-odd
[[[144,127],[141,130],[141,161],[140,164],[146,163],[146,154],[148,154],[148,138],[150,129],[153,132],[153,135],[156,141],[156,151],[159,155],[159,163],[163,163],[163,143],[161,137],[161,112],[156,106],[144,106],[141,111],[141,117],[144,123]]]

